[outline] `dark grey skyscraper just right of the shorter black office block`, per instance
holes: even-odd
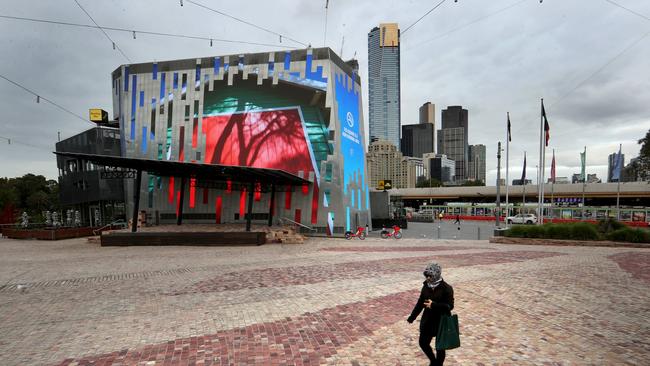
[[[454,179],[457,183],[463,183],[467,179],[467,162],[469,144],[468,136],[468,113],[462,106],[450,106],[442,111],[442,128],[438,130],[438,154],[456,162],[456,174]]]

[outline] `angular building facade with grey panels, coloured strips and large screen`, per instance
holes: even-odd
[[[329,48],[123,65],[112,76],[122,156],[276,169],[311,182],[274,187],[274,198],[255,184],[254,222],[274,212],[328,234],[369,223],[361,80]],[[189,179],[183,201],[179,180],[143,176],[140,207],[156,222],[173,222],[180,204],[186,222],[245,221],[250,182]]]

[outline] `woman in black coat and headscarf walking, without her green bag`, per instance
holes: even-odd
[[[445,350],[437,350],[437,355],[431,349],[431,340],[438,334],[440,316],[451,314],[454,308],[454,289],[442,279],[442,268],[438,263],[431,263],[424,270],[426,280],[411,316],[407,321],[413,323],[420,315],[420,348],[431,361],[431,366],[442,366],[445,361]]]

